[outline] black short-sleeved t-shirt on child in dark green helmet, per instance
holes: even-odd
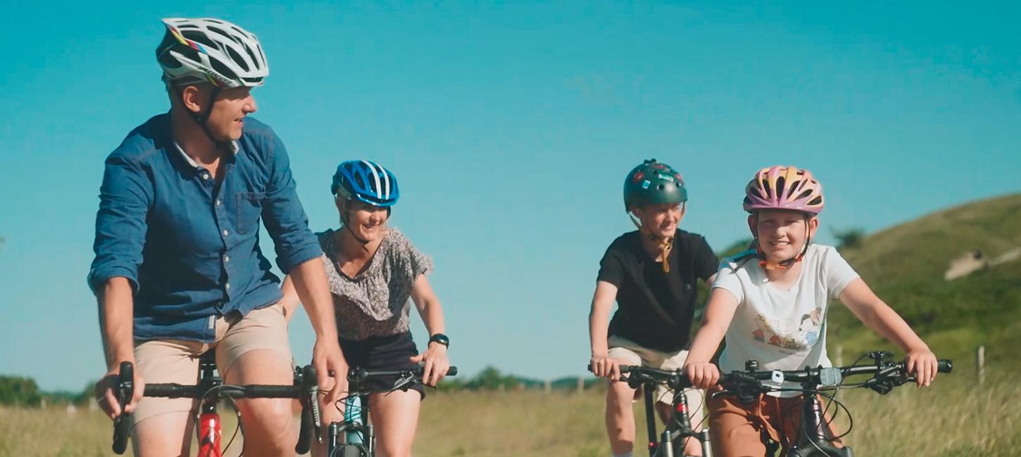
[[[618,309],[610,335],[649,349],[679,351],[691,337],[695,283],[716,273],[716,254],[702,236],[678,230],[670,272],[665,273],[640,237],[637,231],[618,237],[599,261],[597,281],[617,286]]]

